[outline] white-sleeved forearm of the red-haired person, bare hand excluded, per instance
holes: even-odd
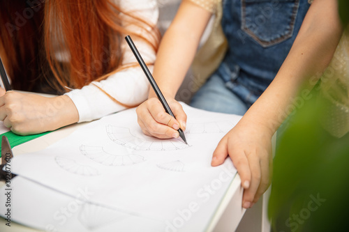
[[[146,56],[144,56],[146,57]],[[149,69],[152,70],[152,65]],[[79,112],[79,123],[134,107],[147,99],[149,82],[140,67],[121,70],[101,82],[66,93]],[[105,94],[107,93],[107,94]]]

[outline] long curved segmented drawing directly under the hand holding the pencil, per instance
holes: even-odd
[[[179,139],[164,141],[150,137],[149,139],[136,137],[131,133],[130,129],[125,127],[107,125],[106,130],[108,137],[112,141],[133,150],[179,150],[190,147]]]

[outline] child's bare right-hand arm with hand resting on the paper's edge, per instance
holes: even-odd
[[[290,114],[287,111],[299,86],[305,84],[306,91],[310,91],[319,73],[327,68],[341,33],[336,0],[313,1],[274,81],[214,151],[213,166],[222,164],[229,155],[237,167],[245,188],[244,208],[251,207],[267,190],[272,171],[272,135]]]

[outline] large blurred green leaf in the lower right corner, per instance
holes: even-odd
[[[285,121],[274,158],[269,217],[274,232],[348,231],[349,133],[318,123],[316,93]]]

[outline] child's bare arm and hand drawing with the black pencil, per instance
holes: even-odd
[[[151,90],[149,100],[137,109],[138,123],[144,134],[171,138],[179,136],[179,126],[185,130],[186,114],[174,96],[193,61],[210,17],[208,10],[191,1],[182,1],[179,6],[177,15],[161,40],[154,66],[154,79],[177,120],[165,113],[161,102]]]

